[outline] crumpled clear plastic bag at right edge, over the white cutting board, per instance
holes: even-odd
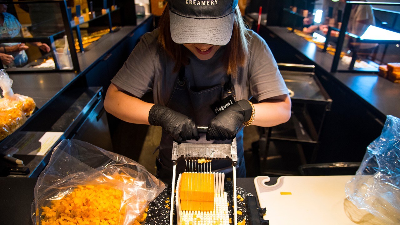
[[[380,137],[367,147],[347,199],[378,218],[378,224],[400,224],[400,119],[387,116]],[[350,218],[351,219],[351,218]]]

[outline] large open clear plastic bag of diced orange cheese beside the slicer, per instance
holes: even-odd
[[[78,140],[53,151],[34,189],[36,225],[143,224],[145,210],[165,185],[142,165]],[[88,223],[87,223],[88,222]]]

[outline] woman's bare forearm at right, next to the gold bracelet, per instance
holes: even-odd
[[[253,125],[260,127],[273,127],[281,123],[286,123],[291,115],[290,98],[285,100],[268,100],[254,104],[256,117]]]

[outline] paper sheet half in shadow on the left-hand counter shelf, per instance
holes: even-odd
[[[4,147],[16,148],[18,155],[45,155],[60,139],[62,132],[18,132]]]

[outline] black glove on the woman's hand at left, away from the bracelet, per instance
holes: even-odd
[[[177,142],[199,139],[197,127],[192,119],[160,104],[154,104],[150,108],[149,123],[162,127]]]

